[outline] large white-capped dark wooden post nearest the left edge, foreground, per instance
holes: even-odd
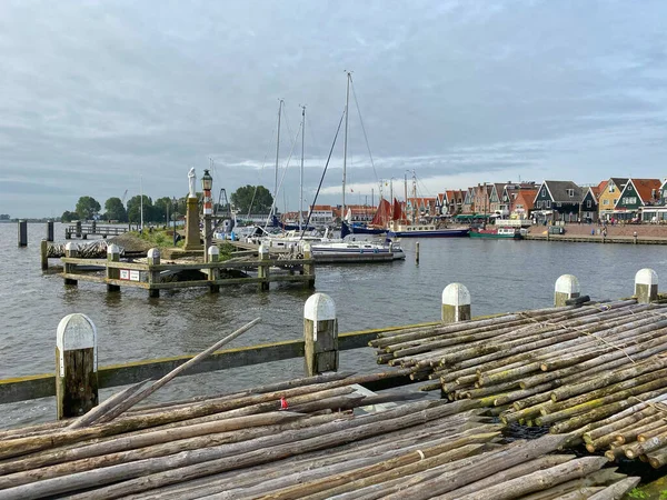
[[[68,314],[58,324],[56,400],[58,420],[98,404],[97,330],[86,314]]]

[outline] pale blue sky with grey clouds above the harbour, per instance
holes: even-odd
[[[330,150],[318,203],[340,203],[346,71],[348,204],[406,176],[425,197],[665,178],[665,19],[648,0],[2,0],[0,213],[181,197],[211,161],[216,198],[273,191],[280,99],[278,208],[299,206],[300,106],[303,206]]]

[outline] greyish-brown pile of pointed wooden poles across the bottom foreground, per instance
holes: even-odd
[[[145,407],[93,427],[4,431],[0,499],[611,499],[638,482],[603,469],[604,458],[550,454],[566,437],[502,444],[501,424],[471,400],[360,411],[410,399],[355,386],[401,373],[327,374]]]

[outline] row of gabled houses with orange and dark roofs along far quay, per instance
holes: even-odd
[[[409,220],[432,220],[442,217],[499,216],[509,219],[532,219],[566,222],[667,221],[667,180],[610,178],[595,186],[578,186],[573,181],[485,182],[468,189],[446,190],[437,197],[411,197],[400,202]],[[375,207],[346,207],[352,222],[370,222]],[[311,223],[328,226],[342,218],[340,206],[317,204],[303,213]],[[283,214],[283,220],[297,220],[298,212]]]

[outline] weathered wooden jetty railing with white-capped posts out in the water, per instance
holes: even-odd
[[[148,290],[150,297],[159,297],[160,290],[182,288],[206,288],[212,293],[220,291],[221,286],[255,283],[259,290],[269,290],[271,282],[296,282],[305,287],[315,287],[315,262],[309,254],[300,259],[283,259],[279,254],[271,256],[268,249],[260,249],[258,259],[239,258],[220,261],[218,247],[208,249],[207,262],[162,262],[157,248],[148,251],[146,262],[121,261],[118,246],[107,249],[107,260],[84,259],[72,242],[67,243],[62,278],[68,286],[77,286],[79,281],[103,283],[109,292],[120,291],[121,287]],[[48,248],[42,242],[42,269],[48,268]],[[80,267],[86,272],[80,271]],[[99,276],[91,274],[98,269]],[[181,271],[200,271],[202,279],[185,281],[173,280],[172,276]],[[252,272],[256,276],[249,276]]]

